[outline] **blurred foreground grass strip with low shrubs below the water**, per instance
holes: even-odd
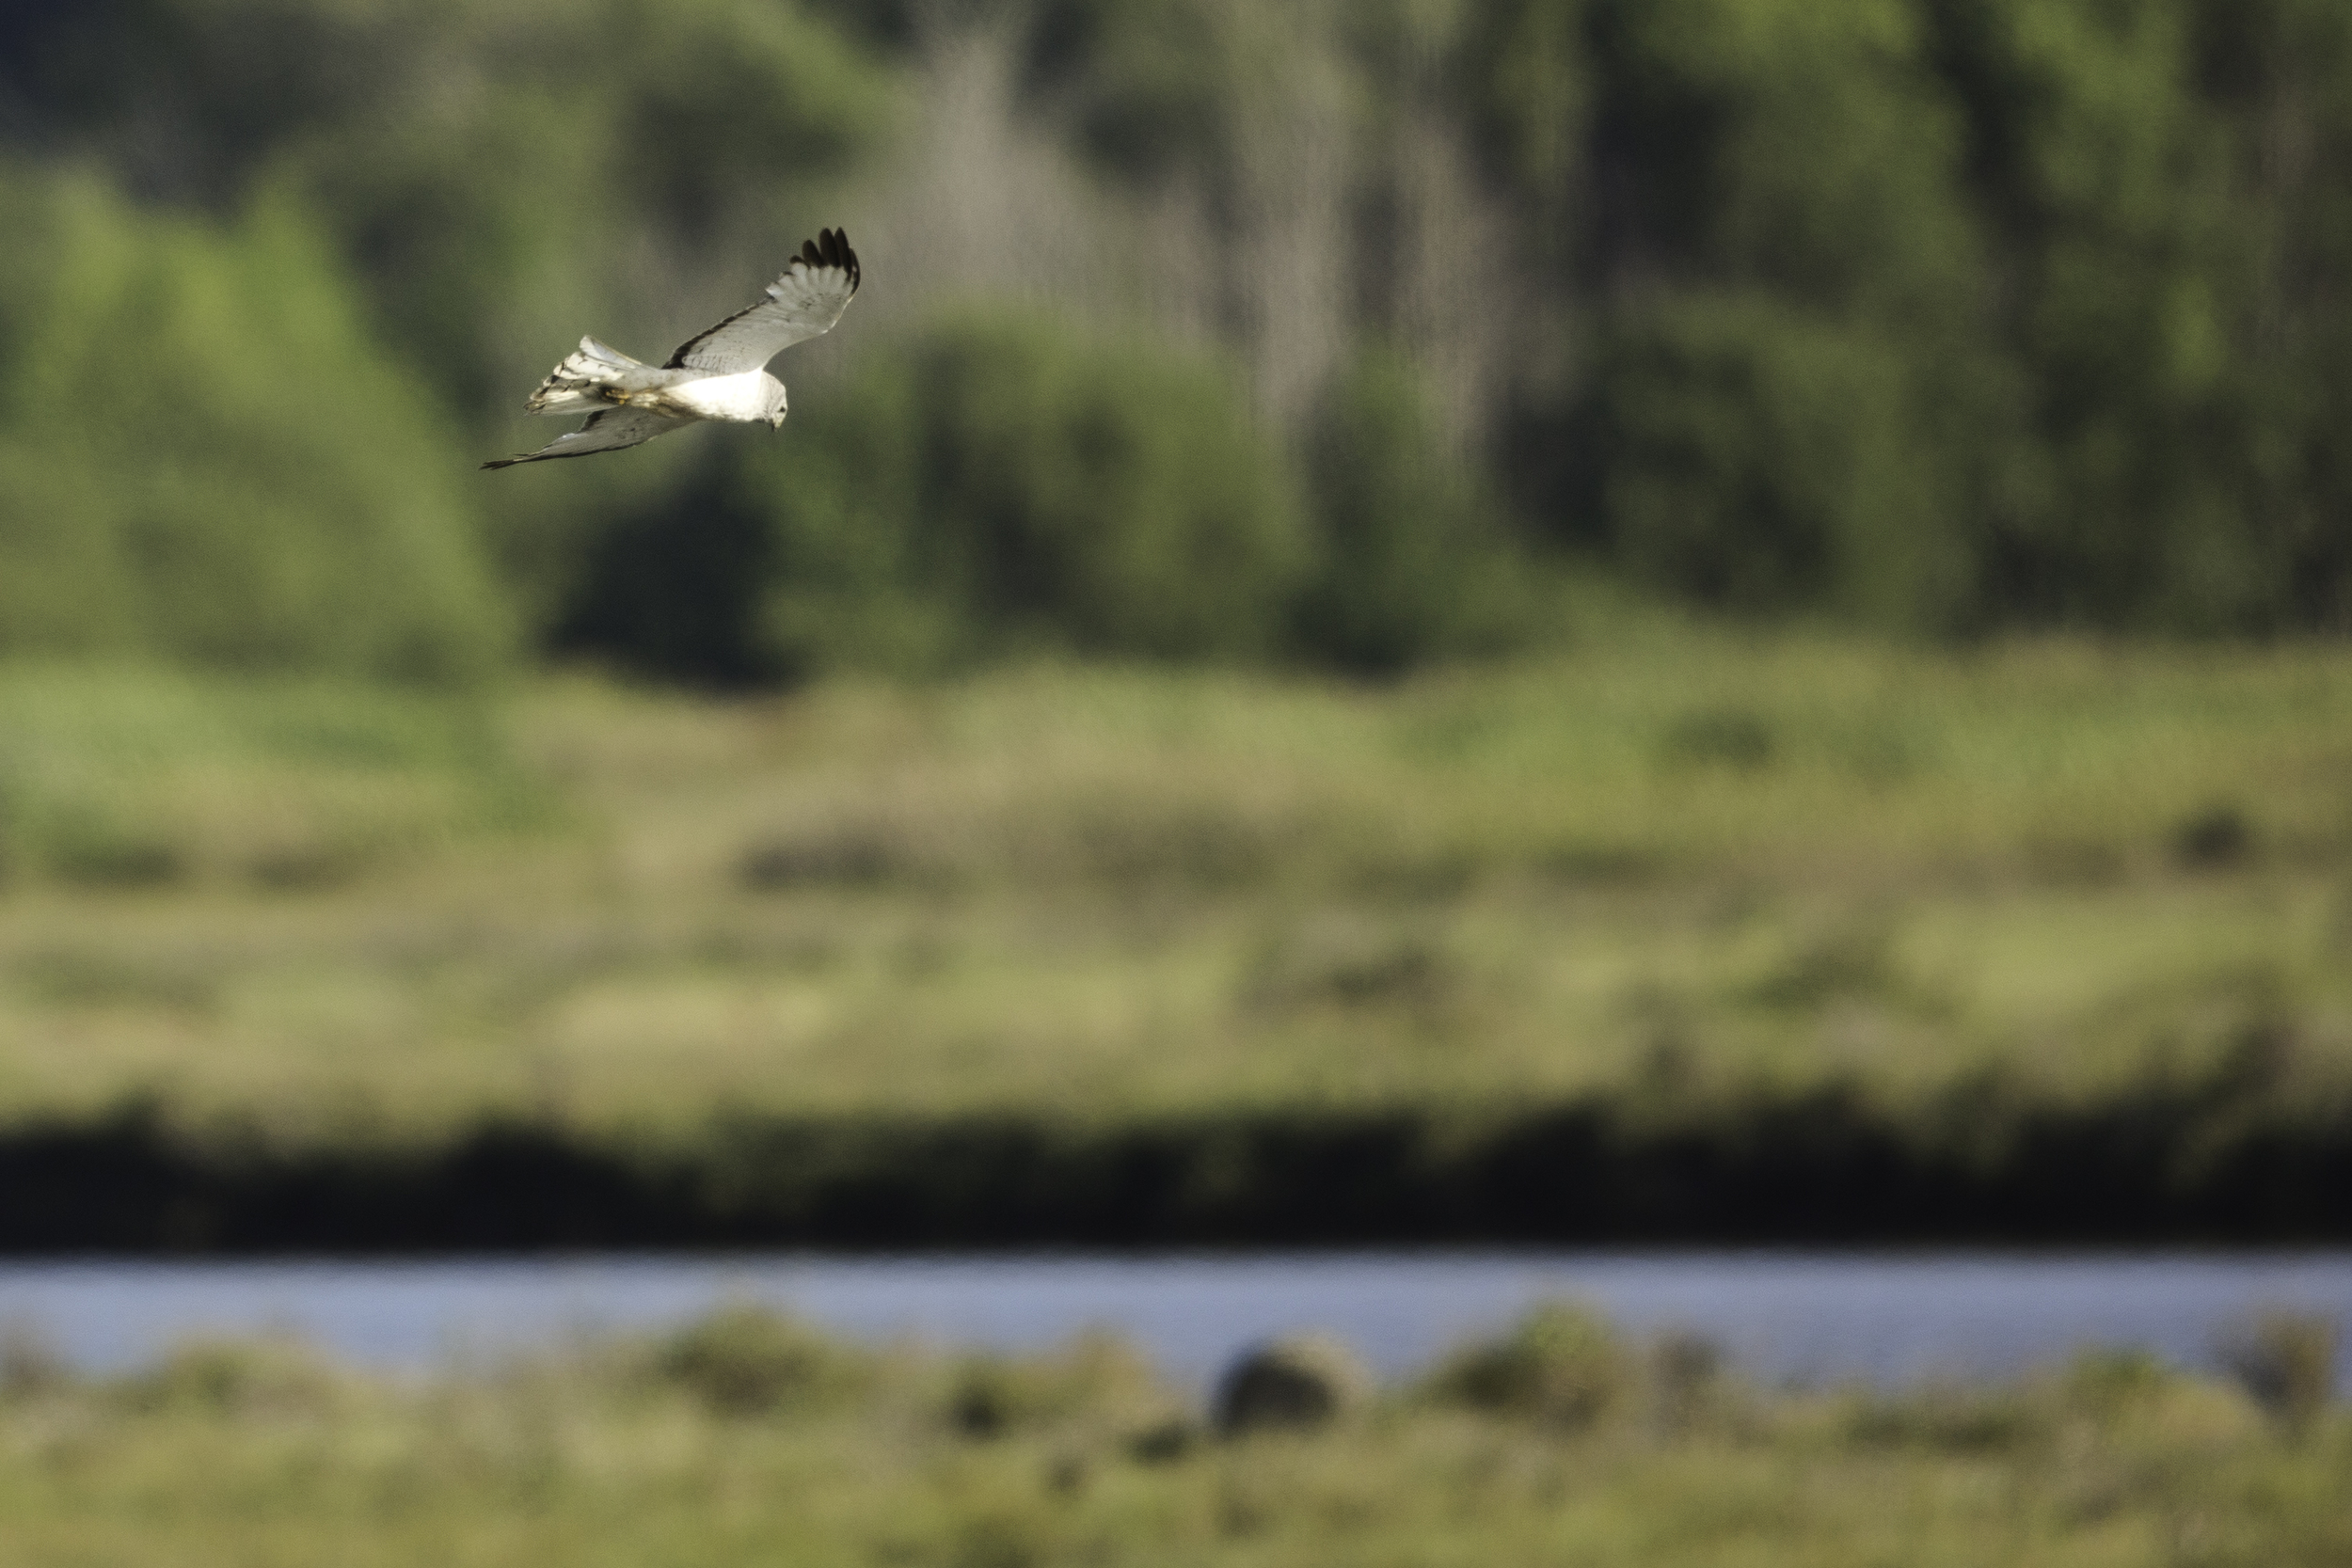
[[[2251,1387],[2263,1387],[2260,1380]],[[1112,1342],[668,1342],[367,1380],[191,1345],[0,1382],[14,1568],[346,1563],[2037,1563],[2352,1554],[2340,1410],[2086,1356],[2011,1387],[1762,1392],[1555,1309],[1322,1429],[1221,1436]]]

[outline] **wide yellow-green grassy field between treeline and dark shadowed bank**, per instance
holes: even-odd
[[[1345,686],[0,670],[0,1117],[1522,1105],[2352,1067],[2352,654],[1628,621]]]

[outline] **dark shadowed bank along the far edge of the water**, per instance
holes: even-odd
[[[2096,1105],[1997,1079],[1661,1114],[741,1119],[691,1143],[487,1121],[409,1147],[176,1131],[151,1107],[0,1135],[0,1248],[995,1248],[1364,1244],[2279,1244],[2352,1237],[2352,1084],[2244,1060]]]

